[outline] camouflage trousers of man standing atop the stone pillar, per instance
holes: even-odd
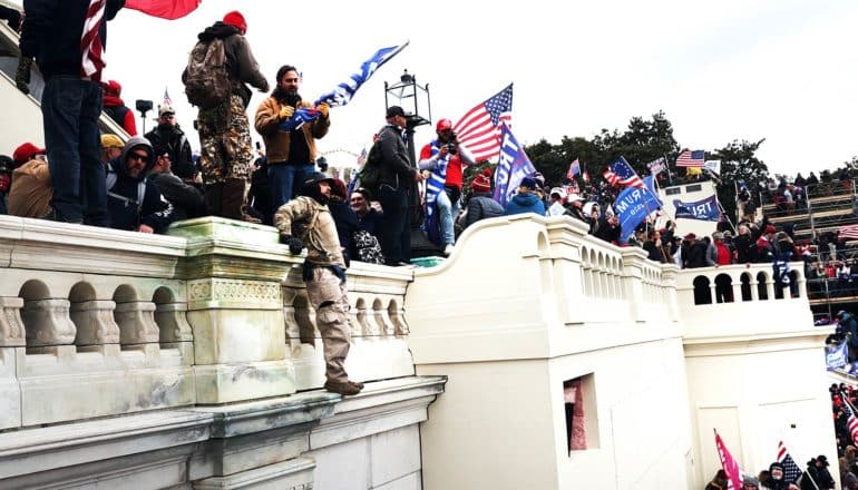
[[[253,147],[251,125],[241,96],[233,94],[230,104],[199,109],[199,168],[206,185],[238,178],[250,183]]]

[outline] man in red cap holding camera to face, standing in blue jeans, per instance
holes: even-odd
[[[426,231],[429,239],[450,255],[461,202],[461,169],[474,165],[474,156],[459,146],[450,119],[439,120],[435,130],[438,138],[423,146],[418,164],[421,170],[431,170],[426,192]]]

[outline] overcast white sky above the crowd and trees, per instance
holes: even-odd
[[[107,76],[124,85],[129,106],[157,105],[168,87],[189,128],[195,111],[179,81],[187,52],[198,31],[236,6],[269,80],[295,65],[305,98],[378,48],[411,41],[350,105],[333,109],[323,151],[360,151],[383,124],[383,82],[408,69],[429,84],[436,119],[456,119],[514,82],[514,133],[525,144],[622,130],[634,116],[664,110],[680,145],[693,149],[766,138],[759,155],[774,171],[835,168],[858,155],[852,1],[205,0],[172,22],[120,12],[108,30]],[[263,97],[254,96],[251,117]],[[431,136],[422,128],[418,144]],[[353,157],[329,159],[342,158]]]

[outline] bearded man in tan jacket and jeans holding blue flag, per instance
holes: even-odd
[[[304,178],[315,171],[315,140],[324,137],[331,126],[329,107],[322,102],[315,107],[320,114],[313,121],[290,131],[280,129],[280,125],[292,117],[295,109],[313,107],[301,99],[298,92],[300,81],[298,68],[291,65],[280,67],[274,91],[256,109],[255,127],[265,140],[269,183],[275,209],[289,203],[298,194]]]

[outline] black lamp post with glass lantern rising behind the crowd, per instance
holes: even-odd
[[[406,138],[411,166],[417,168],[417,148],[415,147],[415,128],[432,122],[432,109],[429,104],[429,84],[419,85],[417,78],[408,70],[399,77],[396,84],[384,82],[384,106],[399,106],[406,112]],[[421,112],[422,111],[422,112]],[[429,242],[420,231],[423,223],[423,207],[420,205],[420,193],[417,183],[412,184],[408,196],[408,216],[411,224],[411,256],[425,257],[442,255],[441,249]]]

